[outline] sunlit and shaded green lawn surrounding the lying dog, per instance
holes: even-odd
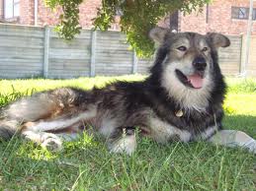
[[[0,105],[45,89],[91,89],[110,80],[2,80]],[[224,127],[256,138],[256,80],[227,83]],[[50,153],[19,138],[0,143],[0,190],[256,190],[256,156],[241,149],[202,142],[162,146],[144,138],[128,157],[109,154],[102,140],[86,134],[64,147]]]

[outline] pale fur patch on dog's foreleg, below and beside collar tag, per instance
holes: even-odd
[[[166,143],[171,137],[177,135],[182,142],[189,142],[191,139],[190,132],[180,130],[156,117],[150,119],[150,129],[152,131],[152,138],[160,143]]]

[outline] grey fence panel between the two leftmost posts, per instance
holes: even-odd
[[[48,78],[77,78],[90,74],[91,32],[84,31],[72,41],[50,31]]]

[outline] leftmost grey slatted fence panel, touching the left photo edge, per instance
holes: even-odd
[[[43,75],[43,29],[0,26],[0,78]]]

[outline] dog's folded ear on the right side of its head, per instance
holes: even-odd
[[[210,40],[215,48],[227,47],[230,45],[229,38],[221,33],[209,32],[207,33],[207,38]]]

